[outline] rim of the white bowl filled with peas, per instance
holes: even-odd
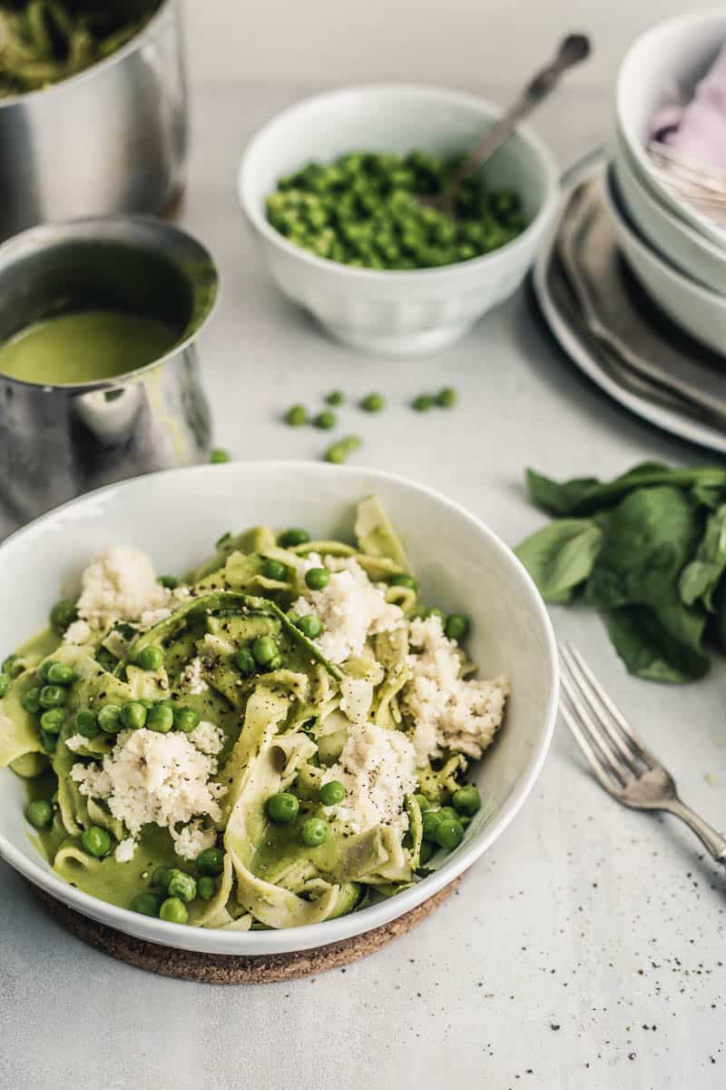
[[[478,95],[471,95],[467,92],[455,90],[448,87],[439,87],[433,84],[417,84],[417,83],[364,83],[355,84],[346,87],[339,87],[334,90],[327,90],[319,95],[310,95],[304,98],[299,102],[294,102],[287,109],[282,110],[280,113],[275,113],[269,121],[258,129],[249,144],[247,144],[245,150],[243,152],[242,159],[239,160],[239,169],[237,172],[237,196],[242,209],[253,225],[253,227],[259,231],[259,233],[266,238],[269,242],[279,246],[281,250],[285,251],[291,256],[306,262],[316,268],[327,269],[328,271],[335,270],[336,274],[341,276],[346,276],[348,278],[358,280],[376,281],[379,283],[391,283],[390,277],[395,276],[397,282],[406,281],[419,281],[422,277],[454,277],[460,276],[463,270],[472,271],[481,269],[484,264],[492,267],[499,259],[503,257],[504,254],[512,254],[515,250],[522,249],[529,241],[532,234],[536,234],[543,223],[546,223],[550,218],[550,213],[554,209],[555,204],[558,201],[559,193],[559,170],[555,162],[554,156],[550,152],[546,144],[541,140],[537,133],[529,128],[529,125],[521,124],[517,125],[517,135],[521,136],[526,144],[536,152],[544,171],[546,174],[546,189],[544,198],[533,217],[533,219],[527,225],[521,234],[518,234],[516,239],[510,242],[505,243],[500,246],[499,250],[493,250],[489,254],[481,254],[479,257],[471,257],[466,262],[455,262],[453,265],[442,265],[435,268],[424,268],[424,269],[367,269],[358,268],[353,265],[344,265],[342,262],[334,262],[327,257],[318,257],[317,254],[311,253],[309,250],[304,250],[302,246],[296,246],[294,243],[288,242],[284,234],[276,231],[271,223],[268,222],[267,218],[262,214],[262,209],[258,206],[257,202],[251,199],[248,192],[247,183],[247,172],[249,169],[249,160],[251,159],[257,147],[270,135],[280,121],[290,121],[295,119],[296,113],[304,113],[308,109],[321,106],[325,102],[330,102],[334,98],[345,98],[352,95],[380,95],[380,94],[410,94],[414,96],[422,96],[429,98],[436,98],[441,101],[448,101],[453,105],[469,106],[475,107],[480,113],[487,114],[488,117],[497,118],[502,113],[502,107],[496,102],[492,102],[487,98],[480,98]]]

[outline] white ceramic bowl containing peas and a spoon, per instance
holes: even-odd
[[[557,170],[525,125],[490,160],[488,182],[522,197],[527,229],[501,250],[469,262],[416,271],[359,269],[317,257],[268,222],[264,198],[278,180],[311,159],[329,162],[355,148],[455,155],[500,116],[472,95],[407,85],[350,87],[309,98],[254,137],[239,168],[239,201],[278,287],[336,338],[374,352],[442,348],[518,287],[557,203]]]

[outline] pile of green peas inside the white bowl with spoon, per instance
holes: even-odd
[[[318,257],[371,269],[422,269],[499,250],[525,227],[513,190],[462,184],[455,216],[420,204],[441,194],[460,162],[426,152],[353,152],[281,178],[266,203],[270,223]]]

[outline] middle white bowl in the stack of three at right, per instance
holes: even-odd
[[[726,247],[716,245],[682,220],[643,183],[619,132],[615,137],[613,166],[628,216],[643,238],[686,276],[726,294]]]

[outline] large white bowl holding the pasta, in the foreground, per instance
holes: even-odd
[[[23,782],[5,768],[0,855],[12,867],[119,931],[184,949],[255,955],[369,931],[424,901],[493,844],[530,792],[550,744],[557,706],[554,635],[533,583],[499,537],[456,504],[402,477],[316,462],[237,462],[171,470],[90,493],[0,546],[0,652],[41,627],[49,605],[61,591],[73,591],[88,558],[112,543],[148,550],[159,571],[183,571],[231,526],[268,522],[304,525],[315,536],[349,536],[356,501],[373,492],[395,519],[426,597],[466,610],[473,620],[473,658],[484,674],[506,673],[512,682],[505,725],[473,768],[484,806],[442,867],[380,905],[317,925],[247,933],[180,927],[115,908],[56,876],[28,839]]]

